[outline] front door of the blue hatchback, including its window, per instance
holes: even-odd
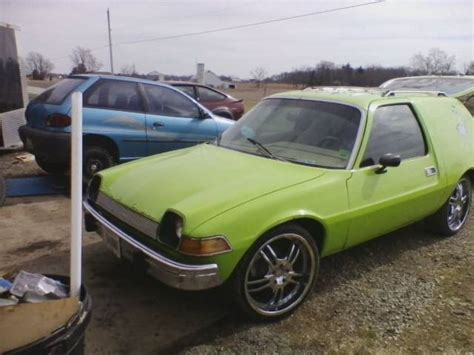
[[[181,92],[160,85],[140,84],[146,99],[148,154],[213,140],[217,124],[203,118],[199,106]]]

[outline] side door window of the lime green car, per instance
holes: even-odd
[[[426,155],[427,147],[420,124],[409,105],[379,107],[361,167],[376,165],[387,153],[403,159]]]

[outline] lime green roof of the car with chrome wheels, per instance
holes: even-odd
[[[315,101],[329,101],[350,106],[355,106],[362,110],[367,110],[369,105],[374,101],[393,101],[399,99],[400,96],[416,97],[426,96],[446,96],[438,91],[406,91],[406,90],[387,90],[383,88],[371,87],[350,87],[350,86],[325,86],[311,87],[304,90],[288,91],[271,95],[267,98],[282,99],[303,99]]]

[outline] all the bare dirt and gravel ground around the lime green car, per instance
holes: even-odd
[[[3,174],[39,172],[15,154],[0,155]],[[452,238],[416,225],[325,258],[308,301],[270,324],[243,319],[223,290],[180,292],[136,273],[86,233],[86,353],[472,353],[473,230],[471,214]],[[68,274],[69,199],[7,199],[0,240],[0,273]]]

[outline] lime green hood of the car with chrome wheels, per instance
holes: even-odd
[[[101,192],[157,222],[167,210],[185,232],[260,196],[321,176],[324,170],[201,144],[100,173]]]

